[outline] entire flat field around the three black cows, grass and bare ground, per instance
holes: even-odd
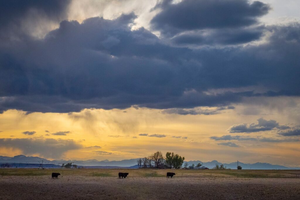
[[[168,171],[176,175],[167,179]],[[52,172],[59,172],[61,176],[52,180]],[[129,176],[119,179],[118,172],[129,172]],[[0,175],[0,199],[300,197],[300,175],[295,178],[300,170],[1,169],[0,173],[4,174]]]

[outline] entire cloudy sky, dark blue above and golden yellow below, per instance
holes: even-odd
[[[0,155],[300,167],[299,6],[0,1]]]

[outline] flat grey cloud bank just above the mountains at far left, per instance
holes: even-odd
[[[39,154],[46,158],[59,158],[69,150],[81,148],[81,145],[75,141],[64,139],[2,138],[0,145],[6,148],[19,149],[25,155]]]

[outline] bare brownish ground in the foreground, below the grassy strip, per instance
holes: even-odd
[[[0,176],[0,199],[300,199],[300,178]]]

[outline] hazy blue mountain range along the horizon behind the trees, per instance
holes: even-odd
[[[118,168],[118,167],[126,167],[126,168],[137,168],[137,160],[135,159],[128,159],[128,160],[120,160],[120,161],[109,161],[109,160],[102,160],[98,161],[96,159],[93,160],[47,160],[45,158],[40,157],[33,157],[33,156],[24,156],[24,155],[17,155],[14,157],[6,157],[6,156],[0,156],[0,163],[33,163],[33,164],[39,164],[43,160],[44,164],[58,164],[58,163],[71,163],[74,162],[75,165],[78,166],[85,166],[85,168]],[[184,162],[186,163],[186,162]],[[187,161],[188,165],[191,166],[194,164],[195,166],[198,163],[201,163],[199,160],[191,160]],[[237,162],[234,163],[220,163],[217,160],[213,160],[211,162],[203,162],[203,166],[211,169],[216,164],[221,165],[223,164],[227,168],[236,169]],[[243,169],[300,169],[300,168],[289,168],[286,166],[281,165],[272,165],[269,163],[253,163],[253,164],[245,164],[238,162],[238,165],[240,165]]]

